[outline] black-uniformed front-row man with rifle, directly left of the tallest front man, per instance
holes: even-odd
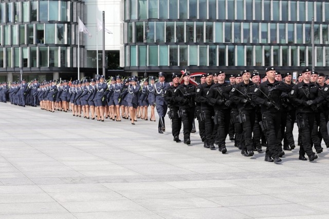
[[[239,119],[243,127],[244,143],[241,154],[253,156],[252,130],[255,123],[255,104],[252,102],[251,93],[257,88],[250,81],[250,71],[242,71],[243,81],[231,90],[230,99],[237,105]]]

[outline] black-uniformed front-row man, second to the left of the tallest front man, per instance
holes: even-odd
[[[218,83],[211,86],[207,94],[209,105],[214,107],[215,114],[213,116],[214,124],[217,124],[218,134],[218,150],[226,153],[226,136],[228,135],[229,124],[231,121],[231,101],[229,93],[232,85],[225,82],[225,72],[219,71],[217,75]]]

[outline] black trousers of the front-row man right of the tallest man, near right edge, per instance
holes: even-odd
[[[301,136],[301,147],[299,154],[304,156],[305,153],[307,156],[315,154],[312,150],[312,132],[314,130],[314,123],[316,120],[316,113],[314,112],[303,112],[297,114],[297,125],[298,131]]]

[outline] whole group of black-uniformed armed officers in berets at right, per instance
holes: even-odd
[[[257,71],[244,70],[230,75],[230,82],[225,81],[224,71],[206,73],[197,86],[191,83],[189,73],[182,75],[182,84],[180,76],[172,74],[172,84],[162,95],[168,103],[175,142],[180,142],[182,123],[184,143],[191,144],[196,115],[204,147],[215,150],[217,144],[223,154],[227,152],[225,140],[229,135],[243,156],[253,156],[254,151],[261,153],[262,146],[266,146],[265,161],[279,163],[285,154],[283,150],[296,147],[295,121],[299,160],[307,161],[305,154],[309,161],[316,160],[318,156],[312,147],[321,153],[322,139],[329,147],[329,85],[325,83],[329,80],[323,73],[304,68],[297,84],[290,72],[281,74],[274,67],[267,67],[262,76]]]

